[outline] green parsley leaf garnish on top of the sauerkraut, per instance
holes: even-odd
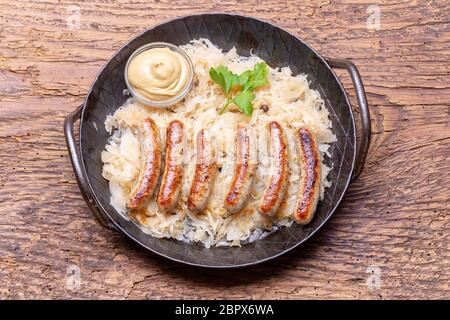
[[[238,106],[242,112],[251,116],[253,113],[252,101],[255,99],[254,89],[266,86],[267,64],[265,62],[257,63],[253,70],[247,70],[237,75],[226,66],[209,69],[209,76],[217,83],[227,96],[227,102],[220,109],[219,114],[223,114],[226,108],[231,104]]]

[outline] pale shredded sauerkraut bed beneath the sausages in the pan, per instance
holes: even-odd
[[[300,179],[296,144],[293,141],[295,129],[308,126],[317,136],[322,156],[321,198],[324,189],[330,186],[327,180],[330,168],[323,160],[327,156],[329,144],[336,137],[319,93],[309,87],[306,75],[294,76],[288,67],[269,68],[270,85],[254,91],[256,99],[251,117],[232,106],[226,113],[219,115],[218,111],[226,102],[226,97],[210,79],[209,69],[225,65],[231,71],[241,73],[262,60],[253,55],[239,56],[235,48],[223,52],[207,39],[194,40],[181,48],[191,57],[195,70],[193,88],[184,100],[170,108],[152,108],[129,99],[105,120],[105,128],[111,133],[111,137],[102,153],[103,177],[109,180],[111,205],[124,218],[131,217],[151,236],[200,242],[206,247],[239,246],[256,241],[271,230],[290,226],[293,223],[292,213]],[[265,106],[261,107],[262,105]],[[136,128],[147,117],[153,118],[157,123],[163,146],[168,123],[174,119],[185,123],[187,147],[183,185],[178,205],[170,213],[158,210],[155,196],[144,210],[127,212],[126,209],[130,190],[140,170],[141,155]],[[287,132],[290,177],[282,207],[273,219],[268,219],[262,217],[256,208],[270,169],[265,125],[272,120],[282,123]],[[233,176],[234,132],[238,123],[246,124],[255,132],[258,169],[246,206],[241,212],[229,214],[224,209],[223,201]],[[220,170],[214,180],[206,209],[201,214],[194,214],[187,209],[186,200],[195,168],[194,137],[202,128],[208,128],[214,136]]]

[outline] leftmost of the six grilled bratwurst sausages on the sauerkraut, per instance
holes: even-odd
[[[161,145],[158,127],[151,118],[145,119],[139,130],[141,143],[141,169],[131,191],[127,207],[142,208],[153,195],[161,170]]]

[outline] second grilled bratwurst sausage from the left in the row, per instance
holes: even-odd
[[[166,155],[157,198],[162,211],[172,210],[178,202],[183,176],[184,125],[180,120],[169,123],[166,133]]]

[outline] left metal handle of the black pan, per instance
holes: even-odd
[[[78,186],[80,187],[81,194],[83,195],[83,198],[91,211],[94,213],[98,223],[107,229],[115,230],[115,227],[110,222],[109,218],[102,212],[94,201],[94,196],[84,174],[84,168],[78,153],[78,146],[73,135],[73,125],[80,119],[82,109],[83,105],[80,105],[64,120],[64,135],[66,137],[67,148],[69,149],[70,161],[72,162],[73,171],[75,172],[75,177],[77,179]]]

